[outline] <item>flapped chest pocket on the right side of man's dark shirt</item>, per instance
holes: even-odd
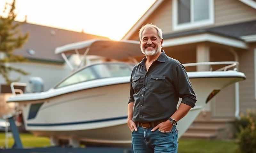
[[[149,91],[152,93],[165,93],[168,91],[166,77],[163,75],[151,75]]]

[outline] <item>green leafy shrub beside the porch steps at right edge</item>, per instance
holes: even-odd
[[[240,152],[256,153],[256,112],[247,111],[236,124],[239,127],[237,138]]]

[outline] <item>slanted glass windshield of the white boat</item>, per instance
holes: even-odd
[[[131,76],[133,66],[133,64],[126,63],[101,63],[91,65],[67,77],[55,88],[101,78]]]

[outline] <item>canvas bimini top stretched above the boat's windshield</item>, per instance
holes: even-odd
[[[128,57],[142,56],[139,41],[135,40],[86,40],[57,47],[55,54],[76,54],[83,55],[87,48],[87,55],[98,55],[111,59],[121,60]]]

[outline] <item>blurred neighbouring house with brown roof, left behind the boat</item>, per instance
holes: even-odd
[[[41,77],[44,81],[44,91],[50,89],[71,73],[70,68],[66,65],[61,55],[54,54],[56,47],[90,39],[108,39],[107,37],[83,32],[68,31],[26,22],[20,25],[19,28],[21,33],[29,33],[29,38],[22,48],[14,51],[14,54],[26,57],[28,61],[22,63],[6,63],[6,65],[22,69],[28,72],[29,75],[23,76],[19,73],[11,72],[10,78],[17,79],[20,77],[19,82],[28,84],[30,77]],[[73,57],[71,56],[69,59],[73,59],[73,63],[75,63],[76,58]],[[5,84],[2,76],[0,76],[0,84]],[[12,112],[15,107],[14,104],[9,103],[7,105],[5,103],[11,94],[3,93],[3,90],[1,92],[0,118],[3,114]]]

